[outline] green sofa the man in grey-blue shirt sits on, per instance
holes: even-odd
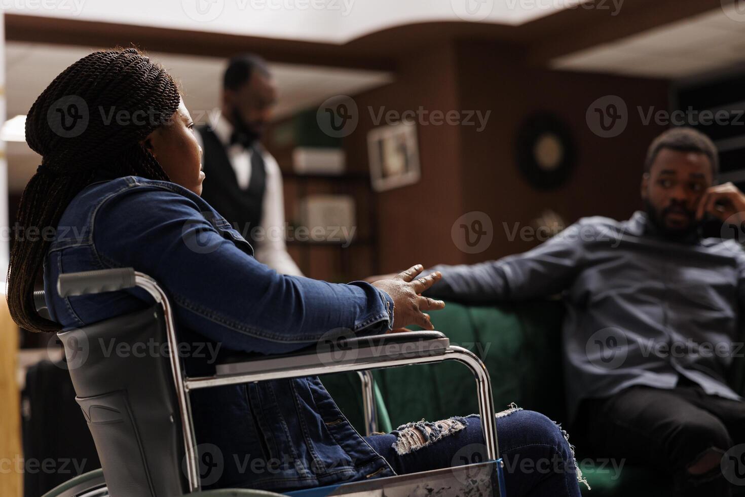
[[[446,333],[451,343],[472,350],[484,360],[497,410],[515,402],[560,423],[567,422],[560,344],[563,314],[562,303],[552,300],[504,306],[448,303],[431,317],[435,329]],[[478,413],[475,382],[462,364],[378,370],[375,380],[382,400],[378,408],[381,431],[422,418],[434,421],[454,414]],[[350,422],[363,432],[361,396],[350,394],[360,390],[358,377],[324,376],[322,381]],[[588,458],[581,446],[576,456],[592,487],[587,490],[582,486],[583,495],[671,495],[667,478],[653,469],[624,464],[618,471],[609,463]]]

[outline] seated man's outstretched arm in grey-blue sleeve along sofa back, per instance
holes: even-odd
[[[469,303],[529,300],[563,291],[584,261],[582,221],[525,253],[474,265],[437,265],[443,279],[425,295]]]

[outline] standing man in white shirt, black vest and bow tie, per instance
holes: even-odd
[[[197,128],[206,175],[202,197],[250,241],[259,262],[302,276],[285,244],[282,172],[259,143],[275,103],[266,62],[253,54],[232,57],[221,113]]]

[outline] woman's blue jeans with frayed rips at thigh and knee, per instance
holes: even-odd
[[[497,414],[497,436],[507,496],[580,496],[583,478],[566,432],[556,423],[513,407]],[[399,475],[486,460],[478,414],[412,422],[365,440]]]

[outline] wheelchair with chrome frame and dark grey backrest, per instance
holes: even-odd
[[[135,287],[147,291],[155,303],[140,311],[57,334],[65,349],[76,400],[86,417],[102,467],[72,478],[43,497],[403,497],[429,495],[433,489],[443,497],[505,497],[489,373],[478,356],[451,345],[442,333],[351,338],[329,347],[312,344],[282,355],[231,351],[218,357],[210,374],[190,377],[178,353],[171,304],[150,276],[133,268],[118,268],[61,274],[57,282],[62,297]],[[46,310],[43,291],[35,292],[34,301],[40,312]],[[111,354],[104,345],[116,341],[132,346],[150,340],[168,344],[168,352],[134,358],[131,354]],[[205,464],[200,460],[191,419],[192,390],[357,372],[362,385],[365,430],[371,434],[376,431],[377,422],[370,370],[448,360],[465,364],[475,377],[486,460],[466,460],[463,466],[286,493],[245,488],[202,490]]]

